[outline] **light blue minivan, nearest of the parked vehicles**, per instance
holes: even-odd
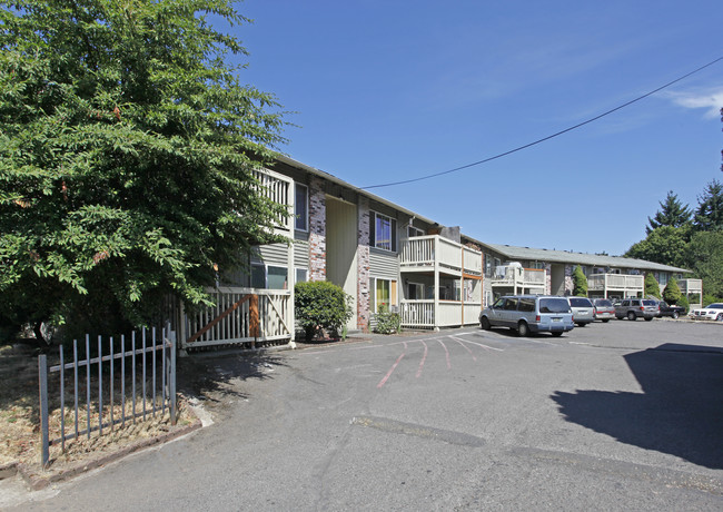
[[[565,297],[549,295],[509,295],[499,297],[479,313],[479,326],[504,326],[519,336],[548,332],[559,336],[575,327],[573,312]]]

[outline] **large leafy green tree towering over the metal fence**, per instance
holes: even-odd
[[[6,323],[145,323],[275,239],[252,171],[283,112],[211,16],[247,21],[229,0],[0,1]]]

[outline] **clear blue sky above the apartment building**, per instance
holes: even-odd
[[[246,0],[241,81],[283,152],[366,187],[546,137],[723,57],[723,2]],[[370,191],[495,244],[618,255],[722,179],[723,61],[555,139]]]

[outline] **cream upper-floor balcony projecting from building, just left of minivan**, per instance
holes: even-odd
[[[482,253],[439,235],[418,236],[402,240],[399,267],[402,272],[437,269],[456,276],[482,276]]]

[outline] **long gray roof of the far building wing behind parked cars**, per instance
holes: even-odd
[[[614,268],[637,268],[640,270],[653,272],[680,272],[690,273],[685,268],[672,267],[660,263],[646,262],[645,259],[625,258],[623,256],[598,256],[596,254],[572,253],[566,250],[535,249],[529,247],[516,247],[513,245],[498,245],[481,243],[483,246],[502,254],[508,259],[525,259],[533,262],[567,263],[586,266],[614,267]]]

